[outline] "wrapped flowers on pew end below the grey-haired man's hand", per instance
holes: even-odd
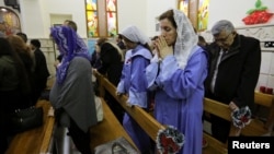
[[[233,126],[244,128],[251,121],[251,110],[248,106],[236,109],[231,112]]]

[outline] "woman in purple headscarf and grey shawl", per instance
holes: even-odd
[[[91,154],[89,129],[98,119],[88,48],[69,26],[52,27],[50,35],[64,57],[49,100],[57,121],[68,128],[76,147],[82,154]]]

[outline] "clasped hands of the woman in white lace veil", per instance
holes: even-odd
[[[159,36],[155,42],[155,47],[159,58],[164,59],[167,56],[173,54],[172,46],[169,46],[163,36]]]

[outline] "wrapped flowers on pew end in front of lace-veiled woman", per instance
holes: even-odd
[[[184,134],[172,126],[160,129],[156,139],[160,154],[178,153],[184,144]]]

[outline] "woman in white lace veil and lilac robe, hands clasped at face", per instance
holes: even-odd
[[[161,35],[156,40],[158,61],[146,74],[155,91],[155,117],[185,135],[180,154],[202,154],[204,80],[207,55],[185,14],[168,10],[159,16]]]

